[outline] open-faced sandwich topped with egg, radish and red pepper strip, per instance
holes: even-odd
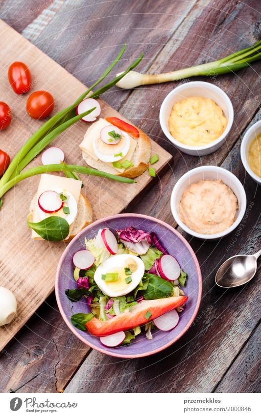
[[[135,178],[149,166],[151,143],[140,129],[108,117],[99,118],[87,129],[80,149],[90,167]]]

